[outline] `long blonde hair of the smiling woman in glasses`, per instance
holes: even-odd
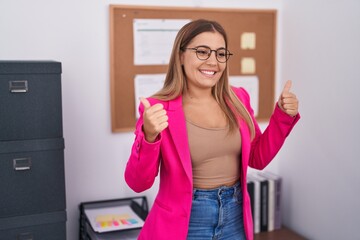
[[[172,100],[186,91],[186,76],[180,61],[181,51],[188,46],[194,37],[203,32],[220,33],[225,40],[225,48],[227,48],[227,35],[219,23],[198,19],[184,25],[175,38],[164,86],[152,97],[160,100]],[[224,73],[218,83],[213,87],[212,95],[225,113],[229,122],[230,132],[235,131],[235,129],[239,127],[237,118],[241,117],[245,120],[250,130],[251,138],[253,139],[255,136],[254,122],[246,107],[230,87],[228,65],[226,65]]]

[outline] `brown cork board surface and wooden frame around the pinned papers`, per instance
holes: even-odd
[[[228,34],[230,76],[242,71],[243,58],[255,60],[259,79],[257,120],[269,120],[275,102],[276,10],[241,10],[187,7],[110,5],[110,88],[113,132],[133,131],[136,123],[134,78],[137,74],[166,73],[167,65],[134,64],[134,19],[209,19],[219,22]],[[242,49],[241,35],[256,34],[256,47]],[[169,56],[170,58],[170,56]],[[148,97],[148,96],[144,96]]]

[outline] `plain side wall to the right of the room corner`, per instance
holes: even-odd
[[[309,239],[359,239],[360,2],[283,1],[281,78],[302,119],[279,156],[284,222]]]

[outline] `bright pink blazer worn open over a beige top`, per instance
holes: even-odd
[[[239,99],[253,116],[249,95],[243,88],[233,88]],[[125,180],[135,191],[149,189],[160,174],[160,186],[153,207],[139,235],[140,240],[185,240],[192,204],[192,167],[182,97],[171,101],[148,99],[151,105],[162,103],[169,117],[169,126],[155,143],[148,143],[142,132],[143,106],[136,123],[135,141],[125,169]],[[261,133],[255,121],[256,137],[251,142],[245,122],[239,119],[242,149],[241,187],[243,190],[243,214],[246,238],[253,239],[253,223],[250,199],[247,193],[247,167],[263,169],[283,145],[300,115],[291,117],[277,106],[269,125]]]

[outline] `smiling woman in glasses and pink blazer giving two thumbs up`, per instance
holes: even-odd
[[[195,20],[177,34],[163,88],[142,98],[125,170],[136,192],[160,173],[139,239],[253,239],[247,167],[263,169],[299,120],[286,86],[261,133],[243,88],[229,86],[224,29]]]

